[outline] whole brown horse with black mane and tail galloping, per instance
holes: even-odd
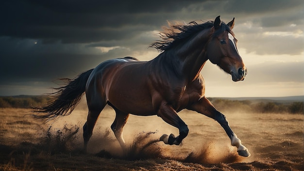
[[[74,79],[67,79],[67,85],[51,93],[53,101],[34,108],[37,114],[33,116],[53,120],[69,115],[85,92],[88,115],[83,126],[84,151],[102,109],[108,104],[116,112],[111,129],[126,152],[122,131],[130,114],[157,115],[178,128],[177,137],[164,134],[159,141],[179,145],[189,129],[178,112],[188,109],[220,123],[238,154],[248,157],[251,154],[232,131],[226,117],[205,97],[201,74],[209,59],[230,74],[234,82],[245,79],[247,68],[236,48],[234,24],[235,18],[226,24],[220,16],[202,23],[169,24],[158,34],[162,40],[150,45],[160,51],[157,57],[151,61],[139,61],[134,57],[104,61]]]

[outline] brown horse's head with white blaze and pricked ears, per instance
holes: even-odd
[[[209,60],[231,74],[233,81],[243,81],[247,74],[241,56],[239,55],[232,28],[234,19],[228,24],[220,21],[220,16],[214,21],[214,33],[207,45],[207,56]]]

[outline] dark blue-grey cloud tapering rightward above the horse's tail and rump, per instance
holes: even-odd
[[[102,53],[85,44],[41,44],[39,41],[35,44],[34,40],[10,37],[1,37],[0,41],[6,42],[0,47],[0,85],[72,78],[104,60],[123,57],[120,53],[128,54],[127,50]]]

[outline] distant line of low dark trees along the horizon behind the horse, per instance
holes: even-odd
[[[304,114],[303,102],[276,103],[250,100],[226,100],[209,98],[212,104],[223,112],[251,113],[290,113]],[[14,96],[0,97],[0,108],[31,108],[51,101],[47,96]]]

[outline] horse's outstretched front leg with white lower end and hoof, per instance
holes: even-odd
[[[244,157],[250,156],[248,149],[241,144],[241,140],[237,138],[236,134],[231,130],[226,117],[219,111],[217,111],[207,98],[201,98],[197,103],[193,103],[192,105],[187,107],[187,109],[194,110],[198,113],[201,113],[207,117],[218,121],[220,125],[224,128],[228,137],[230,138],[231,145],[237,147],[238,154]]]

